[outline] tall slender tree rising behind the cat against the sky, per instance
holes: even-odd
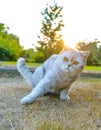
[[[63,15],[61,14],[63,7],[58,6],[57,3],[47,7],[43,12],[42,28],[40,29],[40,36],[38,35],[38,46],[36,50],[43,53],[46,60],[52,54],[60,53],[64,47],[61,30],[64,27]]]

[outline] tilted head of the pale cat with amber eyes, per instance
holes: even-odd
[[[59,55],[59,68],[70,74],[79,74],[85,66],[88,55],[88,51],[77,51],[67,47]]]

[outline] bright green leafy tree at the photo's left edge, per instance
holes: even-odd
[[[0,23],[0,60],[15,61],[22,52],[19,38],[14,34],[8,33],[8,27]]]

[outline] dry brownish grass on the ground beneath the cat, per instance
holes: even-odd
[[[30,105],[20,105],[28,92],[24,80],[0,78],[0,130],[101,129],[100,79],[73,83],[69,103],[44,96]]]

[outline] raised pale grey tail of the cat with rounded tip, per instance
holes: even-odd
[[[25,59],[19,58],[17,61],[17,68],[20,74],[23,76],[23,78],[31,85],[33,86],[33,74],[30,72],[30,70],[25,66]]]

